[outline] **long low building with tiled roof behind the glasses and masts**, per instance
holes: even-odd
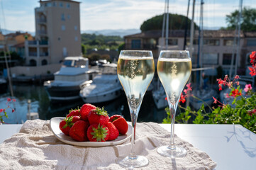
[[[161,37],[161,30],[149,30],[145,33],[125,36],[126,50],[152,50],[157,61],[160,50],[165,49],[165,38]],[[221,66],[224,74],[229,74],[235,30],[204,30],[204,45],[202,48],[203,67]],[[184,30],[170,30],[167,50],[183,50]],[[187,34],[187,47],[189,47],[189,33]],[[191,55],[193,67],[197,65],[199,49],[199,31],[194,33],[194,45]],[[250,65],[249,55],[256,50],[256,32],[240,32],[240,59],[238,71],[245,74],[247,65]]]

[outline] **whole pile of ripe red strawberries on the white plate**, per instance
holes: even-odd
[[[125,135],[128,124],[121,115],[109,118],[104,108],[86,103],[80,109],[69,111],[60,122],[60,130],[79,142],[106,142],[115,140],[119,134]]]

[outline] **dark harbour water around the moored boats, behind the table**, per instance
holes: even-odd
[[[44,86],[31,84],[16,84],[13,85],[13,95],[16,102],[11,104],[12,108],[16,108],[14,113],[11,109],[6,109],[9,118],[4,118],[6,123],[24,123],[27,120],[28,100],[30,99],[30,112],[39,113],[39,118],[42,120],[50,120],[57,116],[65,116],[71,108],[81,107],[84,103],[81,100],[72,103],[50,103],[48,94]],[[11,98],[9,89],[5,94],[0,94],[0,108],[6,108],[7,98]],[[130,121],[130,113],[126,96],[123,92],[121,97],[114,101],[106,103],[94,104],[98,107],[104,107],[109,115],[123,115],[126,120]],[[162,123],[162,119],[166,117],[165,109],[157,110],[152,99],[151,91],[147,91],[138,115],[138,122],[155,122]]]

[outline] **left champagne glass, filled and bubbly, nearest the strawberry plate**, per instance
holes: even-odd
[[[155,64],[151,51],[123,50],[117,64],[117,74],[126,93],[132,124],[130,154],[118,157],[116,163],[125,168],[148,165],[148,159],[135,154],[135,128],[143,96],[154,77]]]

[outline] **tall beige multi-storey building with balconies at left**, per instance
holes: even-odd
[[[26,41],[26,64],[60,63],[81,55],[80,14],[77,1],[41,1],[35,8],[35,40]]]

